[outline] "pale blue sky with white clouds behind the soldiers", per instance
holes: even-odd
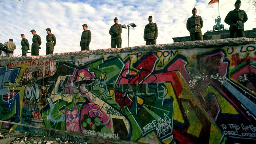
[[[233,10],[236,0],[220,0],[221,23],[227,13]],[[32,44],[31,29],[41,36],[42,45],[39,52],[45,55],[46,28],[52,29],[57,44],[54,53],[80,51],[79,42],[82,25],[87,24],[92,32],[90,50],[110,48],[111,36],[108,31],[118,17],[119,23],[134,22],[137,27],[130,29],[129,46],[145,45],[144,27],[148,16],[158,26],[157,44],[173,43],[172,37],[189,36],[186,21],[191,17],[191,10],[196,7],[204,20],[202,33],[212,30],[218,16],[218,3],[208,5],[210,0],[0,0],[0,41],[4,43],[13,39],[17,49],[14,55],[21,54],[21,37],[24,33]],[[245,30],[256,28],[255,3],[242,0],[241,9],[249,20],[244,24]],[[127,47],[127,29],[122,32],[122,47]],[[28,54],[30,55],[30,54]]]

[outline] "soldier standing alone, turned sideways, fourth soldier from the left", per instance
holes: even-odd
[[[92,39],[92,33],[90,30],[88,30],[87,24],[82,25],[84,31],[82,32],[81,40],[80,40],[80,46],[81,46],[81,51],[90,51],[90,42]]]

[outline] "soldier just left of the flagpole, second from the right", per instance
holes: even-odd
[[[199,15],[196,15],[197,10],[194,7],[192,10],[192,16],[188,18],[187,20],[187,29],[190,34],[190,40],[196,41],[196,40],[203,40],[202,30],[203,28],[203,20]]]

